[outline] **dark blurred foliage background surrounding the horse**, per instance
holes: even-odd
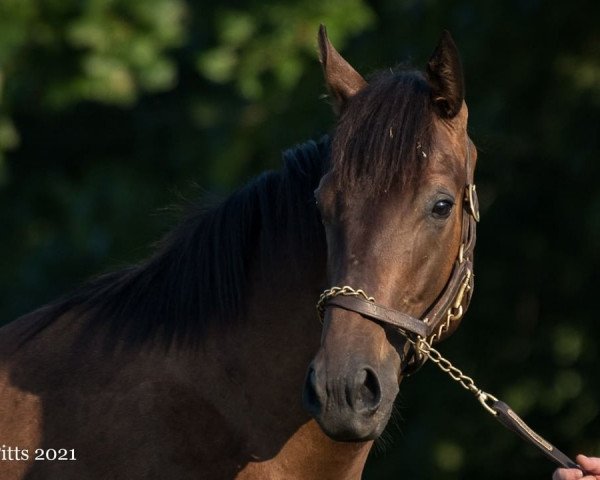
[[[2,0],[0,324],[144,258],[333,124],[319,23],[361,72],[448,28],[479,152],[477,288],[442,350],[560,448],[600,454],[600,2]],[[427,365],[367,479],[550,478]]]

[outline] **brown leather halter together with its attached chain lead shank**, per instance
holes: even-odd
[[[417,146],[418,147],[418,146]],[[467,140],[466,157],[467,181],[464,187],[462,240],[456,261],[448,283],[437,301],[429,307],[422,319],[404,312],[385,307],[375,302],[364,290],[348,285],[325,290],[317,302],[317,314],[321,323],[325,310],[338,307],[356,312],[365,318],[393,326],[408,340],[405,356],[410,358],[403,369],[404,375],[416,372],[427,359],[446,372],[463,388],[470,391],[479,400],[488,413],[493,415],[506,428],[512,430],[525,441],[537,447],[547,458],[564,468],[583,469],[530,428],[506,403],[477,387],[475,381],[444,358],[433,344],[444,339],[452,324],[462,318],[467,311],[474,288],[473,251],[475,249],[475,230],[479,222],[479,202],[473,183],[473,169]],[[412,350],[412,354],[406,349]],[[584,471],[585,473],[585,471]]]

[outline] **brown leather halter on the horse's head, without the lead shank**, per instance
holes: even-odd
[[[392,325],[404,336],[422,338],[429,344],[439,342],[449,334],[453,323],[462,318],[473,294],[473,251],[475,249],[476,225],[479,221],[479,203],[473,183],[471,167],[470,142],[467,140],[466,155],[467,179],[462,202],[463,219],[461,245],[454,267],[446,286],[437,300],[428,308],[423,318],[415,318],[399,310],[380,305],[362,290],[351,287],[333,287],[325,290],[317,303],[317,311],[321,320],[325,309],[339,307],[356,312],[363,317]],[[416,337],[416,338],[415,338]],[[412,358],[403,369],[405,375],[417,371],[427,357],[413,349]]]

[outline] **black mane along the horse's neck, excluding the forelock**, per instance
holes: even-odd
[[[267,269],[278,252],[289,264],[290,252],[325,248],[314,190],[329,150],[328,137],[289,149],[280,171],[259,175],[214,208],[194,208],[147,261],[38,310],[25,341],[70,311],[108,327],[109,338],[139,345],[159,336],[165,345],[196,343],[209,325],[234,322],[243,316],[254,262]]]

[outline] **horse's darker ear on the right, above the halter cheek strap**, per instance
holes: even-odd
[[[458,49],[447,30],[427,63],[427,81],[438,115],[455,117],[465,99],[465,83]]]

